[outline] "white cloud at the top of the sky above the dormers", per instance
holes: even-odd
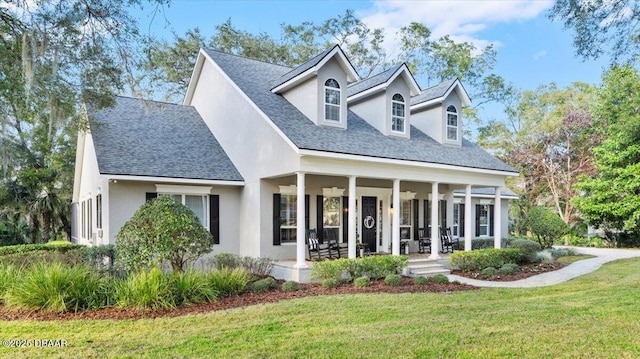
[[[483,39],[479,32],[498,23],[524,21],[537,17],[553,5],[552,0],[489,0],[489,1],[401,1],[379,0],[359,17],[372,28],[384,28],[388,46],[394,47],[395,33],[411,22],[425,24],[432,37],[451,36],[456,41],[468,41],[476,47],[499,46],[496,39]],[[392,49],[387,49],[392,50]]]

